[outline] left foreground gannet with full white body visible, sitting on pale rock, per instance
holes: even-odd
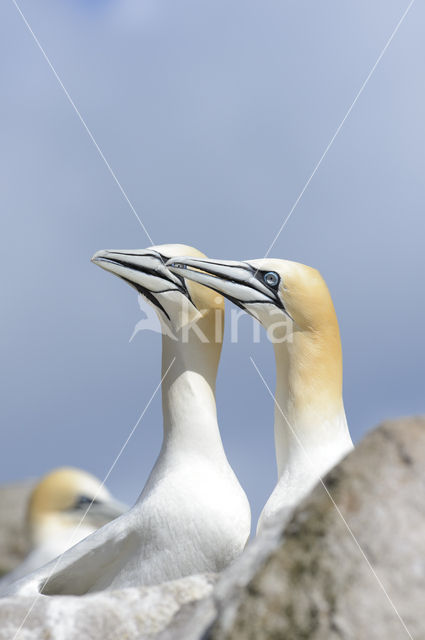
[[[135,287],[162,323],[162,448],[134,507],[68,550],[57,568],[49,563],[8,595],[157,584],[220,571],[243,550],[250,507],[226,458],[215,404],[224,300],[164,266],[179,254],[204,256],[185,245],[93,256]]]

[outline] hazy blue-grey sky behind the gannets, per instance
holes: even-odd
[[[407,0],[25,0],[20,6],[155,243],[259,258]],[[357,441],[424,398],[425,6],[416,2],[272,257],[319,268]],[[11,0],[0,8],[0,482],[103,478],[159,381],[136,293],[90,263],[150,244]],[[229,324],[229,323],[228,323]],[[254,521],[276,480],[271,345],[228,334],[217,403]],[[132,502],[158,394],[108,486]]]

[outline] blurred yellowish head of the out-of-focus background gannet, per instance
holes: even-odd
[[[90,507],[90,508],[89,508]],[[34,546],[71,532],[81,521],[95,530],[128,507],[115,500],[100,480],[81,469],[61,467],[45,475],[33,489],[27,508],[27,526]]]

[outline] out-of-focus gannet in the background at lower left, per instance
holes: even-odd
[[[0,590],[61,555],[127,509],[87,471],[60,467],[46,474],[28,500],[25,519],[28,555],[1,577]]]

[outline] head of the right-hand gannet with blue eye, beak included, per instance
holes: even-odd
[[[261,259],[243,262],[175,256],[167,262],[175,275],[224,295],[266,328],[281,317],[299,330],[334,322],[332,300],[320,273],[298,262]]]

